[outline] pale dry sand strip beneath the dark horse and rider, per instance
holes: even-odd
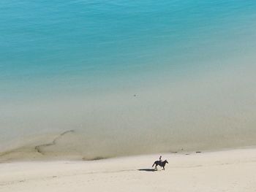
[[[256,191],[256,149],[0,164],[0,191]],[[138,170],[145,169],[145,170]]]

